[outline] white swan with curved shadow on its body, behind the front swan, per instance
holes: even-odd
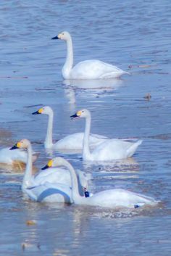
[[[66,169],[51,168],[51,170],[43,170],[37,176],[32,174],[32,146],[28,139],[22,139],[17,142],[13,149],[27,149],[28,161],[25,169],[25,175],[22,181],[22,191],[38,202],[71,202],[71,178],[70,173]],[[78,182],[80,194],[84,195],[87,180],[78,172]]]

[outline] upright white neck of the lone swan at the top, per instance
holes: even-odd
[[[65,79],[70,78],[70,71],[72,70],[73,65],[73,47],[72,47],[72,38],[67,38],[67,57],[62,67],[62,75]]]

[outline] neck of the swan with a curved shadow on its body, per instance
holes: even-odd
[[[32,146],[31,144],[28,146],[28,161],[25,168],[25,175],[22,181],[22,189],[27,189],[28,186],[31,185],[31,177],[32,177]]]

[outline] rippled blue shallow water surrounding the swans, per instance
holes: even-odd
[[[162,203],[120,211],[25,201],[22,175],[1,170],[0,255],[170,255],[170,7],[167,0],[1,1],[1,146],[30,139],[41,152],[41,168],[49,158],[43,149],[47,118],[31,112],[51,105],[54,138],[60,139],[83,131],[83,120],[70,115],[86,107],[93,133],[143,139],[133,160],[113,165],[65,155],[92,173],[91,190],[130,189]],[[97,58],[132,75],[63,81],[66,46],[51,41],[62,30],[72,34],[75,63]]]

